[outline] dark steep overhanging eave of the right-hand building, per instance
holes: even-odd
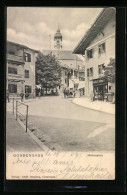
[[[86,34],[80,40],[78,45],[75,47],[73,53],[84,54],[84,51],[89,46],[89,44],[93,41],[97,34],[103,30],[105,25],[112,17],[114,17],[114,15],[115,15],[114,7],[104,8],[96,18],[91,28],[86,32]]]

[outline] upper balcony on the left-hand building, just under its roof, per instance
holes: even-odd
[[[24,64],[24,58],[23,56],[16,56],[16,55],[12,55],[12,54],[7,54],[7,60],[14,62],[16,64]]]

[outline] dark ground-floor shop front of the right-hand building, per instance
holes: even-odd
[[[93,79],[93,99],[104,101],[108,93],[108,82],[105,79]]]

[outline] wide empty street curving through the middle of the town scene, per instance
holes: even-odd
[[[29,126],[48,148],[58,151],[115,149],[115,115],[75,105],[71,98],[41,97],[28,105]]]

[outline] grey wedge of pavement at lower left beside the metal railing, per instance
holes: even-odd
[[[41,147],[25,132],[11,112],[6,112],[6,149],[7,151],[35,152]]]

